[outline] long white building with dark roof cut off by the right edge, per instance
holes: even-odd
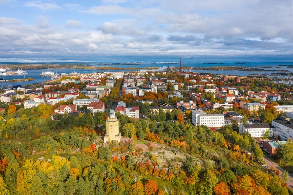
[[[274,119],[272,125],[275,126],[274,136],[280,137],[281,140],[287,141],[293,139],[293,124],[289,121],[290,118],[281,117]]]

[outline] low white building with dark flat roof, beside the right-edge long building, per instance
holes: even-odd
[[[239,126],[239,133],[242,135],[245,131],[251,134],[252,137],[263,137],[265,132],[270,130],[270,137],[273,136],[275,127],[268,123],[257,124],[241,124]]]

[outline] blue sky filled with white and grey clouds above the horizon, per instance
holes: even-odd
[[[0,61],[293,61],[293,0],[0,0]]]

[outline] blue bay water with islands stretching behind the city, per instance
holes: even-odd
[[[135,63],[135,64],[134,64]],[[0,66],[3,63],[0,63]],[[23,63],[9,63],[9,64],[23,64]],[[29,64],[29,63],[25,63]],[[36,64],[36,63],[31,63],[31,64]],[[37,64],[42,64],[38,62]],[[109,67],[119,67],[119,68],[136,68],[137,70],[142,69],[142,68],[147,68],[147,67],[160,67],[160,70],[166,70],[168,66],[170,68],[172,67],[180,67],[180,61],[178,62],[91,62],[91,63],[84,63],[84,62],[74,62],[74,63],[43,63],[48,66],[50,64],[73,64],[74,65],[84,65],[87,67],[91,67],[92,69],[39,69],[39,70],[25,70],[28,72],[28,74],[25,75],[8,75],[8,76],[0,76],[0,78],[6,78],[6,79],[22,79],[22,78],[28,78],[32,77],[34,78],[33,81],[24,81],[24,82],[2,82],[0,83],[0,86],[7,86],[8,85],[27,85],[27,84],[36,84],[36,83],[42,83],[44,81],[49,81],[51,78],[49,77],[41,77],[39,76],[42,71],[53,71],[54,73],[60,74],[60,73],[71,73],[71,72],[78,72],[78,73],[93,73],[95,72],[104,72],[108,71],[107,69],[105,70],[96,70],[95,68],[100,67],[100,66],[109,66]],[[192,71],[192,72],[198,72],[198,73],[213,73],[213,74],[224,74],[224,75],[239,75],[239,76],[248,76],[248,74],[264,74],[264,73],[274,73],[272,70],[276,70],[276,66],[280,66],[282,64],[292,66],[293,62],[195,62],[195,61],[183,61],[182,66],[188,66],[188,67],[213,67],[213,66],[245,66],[248,68],[258,68],[258,67],[263,67],[263,66],[272,66],[272,68],[262,68],[265,69],[266,71],[238,71],[238,70],[231,70],[231,71],[224,71],[224,70],[219,70],[219,71],[211,71],[211,70],[193,70],[188,69],[186,71]],[[184,70],[184,69],[183,69]],[[281,69],[278,70],[289,70],[292,72],[292,68],[287,68],[287,66],[282,66]],[[110,70],[113,71],[113,70]],[[115,70],[117,71],[127,71],[127,70]]]

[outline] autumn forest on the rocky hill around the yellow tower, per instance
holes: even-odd
[[[177,109],[152,120],[117,114],[133,141],[105,146],[106,113],[51,118],[52,110],[9,105],[1,113],[2,194],[288,194],[286,178],[259,164],[251,136],[229,125],[195,127]]]

